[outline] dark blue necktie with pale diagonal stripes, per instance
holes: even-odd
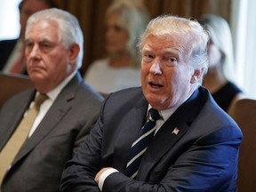
[[[132,143],[128,164],[126,165],[126,175],[135,179],[140,167],[140,161],[148,148],[150,140],[154,137],[156,131],[156,120],[161,118],[155,108],[149,109],[149,119],[139,132],[139,137]]]

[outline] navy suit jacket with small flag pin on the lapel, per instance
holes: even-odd
[[[61,191],[100,191],[102,167],[114,167],[103,192],[236,191],[242,132],[199,88],[164,123],[142,158],[137,180],[124,175],[132,142],[144,123],[148,102],[140,88],[110,94],[90,137],[68,161]],[[180,132],[172,133],[177,127]]]

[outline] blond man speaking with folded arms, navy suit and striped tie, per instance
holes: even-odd
[[[142,89],[108,96],[90,136],[66,164],[60,191],[236,191],[243,135],[200,85],[208,39],[195,20],[150,21],[140,40]]]

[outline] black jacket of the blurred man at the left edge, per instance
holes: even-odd
[[[12,50],[17,43],[18,39],[10,39],[0,41],[0,70],[3,70]]]

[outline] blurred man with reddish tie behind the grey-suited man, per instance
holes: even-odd
[[[35,12],[57,7],[53,0],[22,0],[19,4],[20,11],[20,36],[17,39],[0,41],[0,70],[5,73],[27,74],[24,59],[24,36],[26,23],[30,15]],[[19,67],[14,67],[18,65]]]

